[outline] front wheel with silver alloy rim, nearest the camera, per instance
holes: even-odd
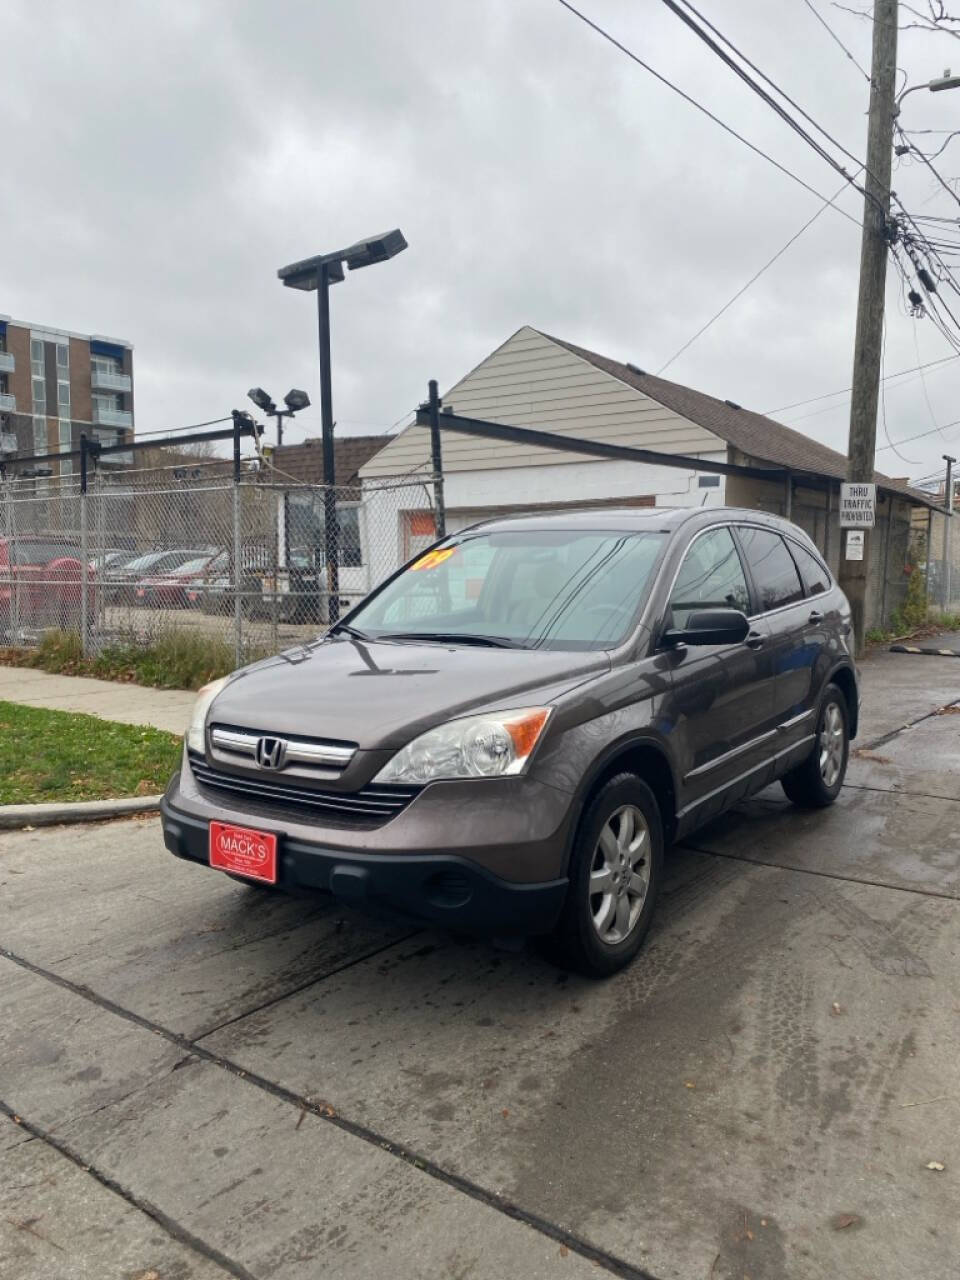
[[[662,877],[657,799],[636,774],[618,773],[580,820],[563,911],[544,940],[549,959],[589,978],[605,978],[630,964],[650,928]]]

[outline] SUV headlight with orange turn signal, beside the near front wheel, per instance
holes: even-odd
[[[416,783],[522,773],[549,714],[549,707],[525,707],[440,724],[397,751],[374,782]]]

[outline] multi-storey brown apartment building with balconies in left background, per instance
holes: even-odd
[[[0,315],[0,453],[8,461],[133,435],[133,347]],[[50,462],[69,474],[76,461]]]

